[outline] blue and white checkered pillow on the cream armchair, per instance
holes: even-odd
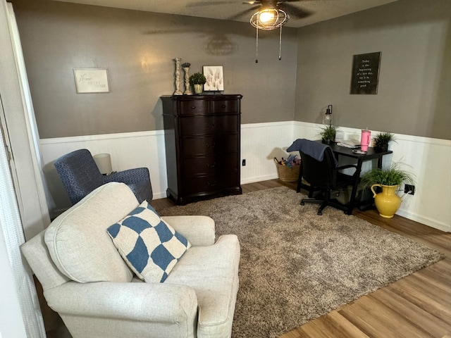
[[[164,282],[191,247],[147,201],[106,231],[125,263],[145,282]]]

